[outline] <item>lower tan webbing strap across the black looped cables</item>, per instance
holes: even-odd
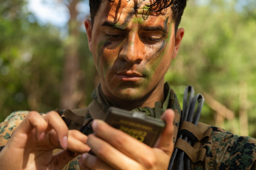
[[[188,142],[183,139],[177,139],[174,148],[183,150],[193,163],[202,162],[205,159],[206,149],[196,151]]]

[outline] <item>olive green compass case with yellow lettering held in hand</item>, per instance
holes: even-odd
[[[163,120],[148,117],[137,111],[129,112],[124,109],[110,107],[107,114],[106,123],[150,147],[154,147],[165,127]]]

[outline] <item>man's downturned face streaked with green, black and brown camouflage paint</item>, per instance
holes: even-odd
[[[159,82],[172,59],[170,15],[148,12],[147,0],[103,2],[92,35],[103,93],[117,101],[133,101],[161,91]]]

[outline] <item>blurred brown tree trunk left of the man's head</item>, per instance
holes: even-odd
[[[77,21],[78,12],[76,6],[79,0],[73,0],[68,7],[70,12],[69,20],[69,37],[65,46],[65,63],[63,70],[63,81],[61,84],[60,109],[74,109],[79,101],[78,81],[79,81],[79,54],[78,54],[78,37],[79,22]]]

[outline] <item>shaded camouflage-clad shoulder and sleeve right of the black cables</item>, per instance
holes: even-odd
[[[204,167],[209,169],[250,169],[256,159],[256,139],[238,136],[212,127],[209,139],[201,143],[206,149]]]

